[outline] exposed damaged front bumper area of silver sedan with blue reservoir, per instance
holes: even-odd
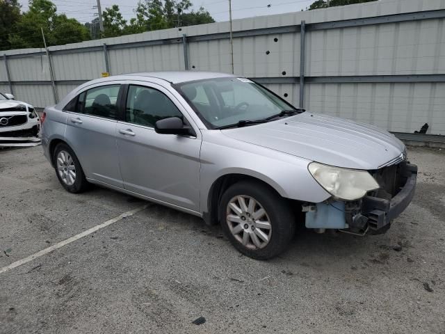
[[[303,206],[306,227],[337,229],[353,234],[385,233],[391,226],[391,221],[410,205],[416,189],[417,166],[403,161],[391,168],[394,168],[391,172],[394,173],[394,178],[390,182],[382,182],[380,178],[382,189],[361,200],[328,200]]]

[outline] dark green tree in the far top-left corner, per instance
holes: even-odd
[[[17,21],[20,18],[20,5],[18,0],[0,0],[0,49],[10,49],[8,40],[14,31],[17,31]]]

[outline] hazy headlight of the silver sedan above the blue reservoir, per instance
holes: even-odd
[[[354,170],[327,166],[312,162],[309,173],[334,198],[339,200],[358,200],[368,191],[380,188],[366,170]]]

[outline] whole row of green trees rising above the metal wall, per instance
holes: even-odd
[[[119,6],[113,5],[102,13],[104,36],[101,36],[98,18],[81,24],[58,14],[51,0],[29,0],[29,10],[25,13],[20,13],[19,0],[0,0],[0,49],[43,47],[40,29],[51,46],[215,22],[204,8],[195,11],[192,7],[191,0],[140,0],[134,10],[136,17],[128,22]]]

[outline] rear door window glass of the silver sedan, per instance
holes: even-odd
[[[78,104],[83,104],[83,113],[88,115],[118,118],[119,89],[120,85],[91,88],[86,91],[86,95],[79,95]]]

